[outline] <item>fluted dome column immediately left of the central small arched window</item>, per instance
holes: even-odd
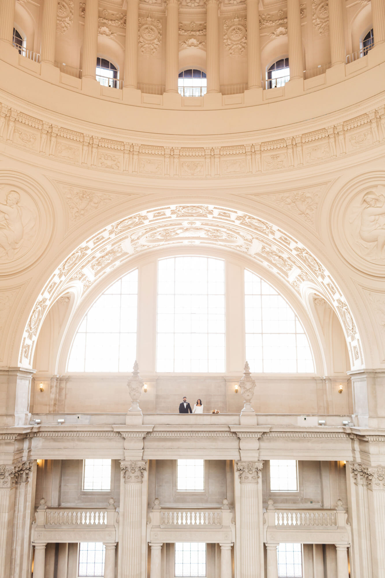
[[[166,0],[166,92],[178,91],[179,0]]]

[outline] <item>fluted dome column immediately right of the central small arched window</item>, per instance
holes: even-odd
[[[218,0],[206,1],[206,73],[207,91],[219,92]]]

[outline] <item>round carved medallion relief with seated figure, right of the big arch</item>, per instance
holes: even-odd
[[[371,275],[384,275],[385,267],[385,186],[356,187],[333,211],[333,236],[349,263]],[[357,190],[358,189],[358,190]],[[342,227],[339,221],[343,212]]]

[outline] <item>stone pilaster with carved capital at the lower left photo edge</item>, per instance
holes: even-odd
[[[28,480],[33,462],[0,465],[0,576],[22,575],[29,553]],[[12,570],[12,573],[11,573]],[[27,574],[25,574],[26,576]]]

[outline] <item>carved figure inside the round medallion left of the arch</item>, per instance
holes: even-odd
[[[20,194],[9,191],[0,203],[0,260],[12,261],[35,234],[36,214],[20,205]]]

